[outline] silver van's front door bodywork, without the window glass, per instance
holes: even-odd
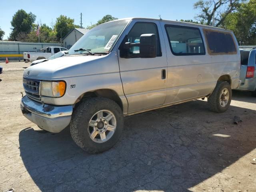
[[[151,22],[156,24],[162,56],[157,56],[156,58],[120,58],[120,50],[118,50],[120,75],[124,94],[128,100],[128,112],[162,105],[166,99],[167,81],[166,79],[162,79],[162,70],[167,70],[166,49],[160,22],[145,19],[132,20],[126,28],[122,40],[136,22]],[[120,38],[118,47],[122,40]]]

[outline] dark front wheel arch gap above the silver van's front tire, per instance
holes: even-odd
[[[122,103],[121,98],[118,96],[117,92],[112,89],[98,89],[98,90],[92,90],[92,91],[85,92],[78,97],[78,99],[76,100],[76,105],[81,100],[86,100],[86,99],[92,98],[92,97],[102,97],[102,98],[108,98],[110,100],[113,100],[120,106],[122,111],[124,111],[124,108],[123,108],[124,104]]]

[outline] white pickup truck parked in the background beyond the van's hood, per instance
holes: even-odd
[[[33,62],[38,59],[45,59],[48,58],[55,53],[60,51],[66,51],[67,49],[64,47],[45,47],[40,49],[40,52],[24,52],[23,53],[23,60],[25,62]]]

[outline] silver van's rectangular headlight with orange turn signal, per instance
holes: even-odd
[[[66,91],[64,81],[41,81],[40,92],[42,96],[62,97]]]

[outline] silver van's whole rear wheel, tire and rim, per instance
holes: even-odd
[[[217,82],[215,89],[208,98],[210,110],[223,113],[228,110],[232,100],[232,90],[228,82]]]

